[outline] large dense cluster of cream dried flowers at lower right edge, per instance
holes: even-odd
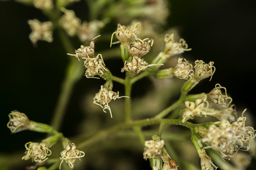
[[[223,120],[219,126],[211,125],[207,133],[204,134],[202,142],[209,143],[211,148],[218,150],[224,159],[236,155],[237,150],[241,147],[249,150],[249,141],[255,137],[255,130],[251,126],[245,126],[246,117],[243,117],[243,113],[242,117],[232,124]]]

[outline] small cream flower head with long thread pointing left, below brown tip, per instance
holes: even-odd
[[[93,58],[94,57],[94,49],[91,48],[90,46],[83,46],[81,45],[80,48],[75,50],[76,54],[69,54],[67,55],[72,55],[75,56],[79,61],[80,58]]]

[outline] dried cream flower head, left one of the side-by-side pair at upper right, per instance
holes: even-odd
[[[173,75],[179,79],[189,79],[194,73],[193,66],[185,58],[178,58],[178,64],[173,68]]]

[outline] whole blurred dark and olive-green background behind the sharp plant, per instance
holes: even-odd
[[[152,53],[145,56],[145,60],[148,62],[150,58],[163,50],[165,33],[168,31],[168,33],[176,33],[177,39],[184,38],[189,48],[192,48],[191,51],[182,54],[182,57],[191,63],[197,59],[215,62],[216,71],[213,79],[210,82],[209,79],[202,80],[190,93],[208,93],[216,83],[221,84],[227,88],[228,95],[236,104],[238,113],[241,114],[242,110],[247,108],[245,113],[245,116],[248,117],[247,124],[256,127],[254,113],[256,92],[253,82],[256,73],[254,54],[256,1],[170,0],[164,6],[158,7],[158,10],[163,12],[158,13],[154,8],[157,6],[158,0],[145,0],[145,2],[141,2],[142,4],[138,3],[139,7],[133,0],[113,0],[102,10],[98,10],[96,14],[90,9],[90,3],[93,1],[81,0],[69,5],[67,9],[74,10],[76,16],[83,21],[89,21],[92,18],[100,20],[104,16],[109,16],[108,23],[99,31],[102,37],[95,40],[95,54],[102,52],[104,62],[113,75],[124,77],[124,73],[120,72],[123,63],[118,55],[119,45],[114,45],[113,51],[106,51],[109,49],[111,33],[116,30],[118,23],[128,25],[134,20],[141,21],[142,36],[155,33],[152,37],[159,43],[155,43]],[[147,7],[151,5],[151,8],[144,9],[143,5]],[[111,7],[116,10],[110,10]],[[161,8],[163,9],[161,10]],[[138,11],[142,11],[142,14],[137,14]],[[30,120],[50,124],[69,62],[69,57],[66,55],[67,52],[57,30],[54,31],[52,43],[39,41],[36,48],[32,45],[28,38],[31,29],[27,21],[34,18],[48,21],[42,11],[32,5],[24,5],[15,1],[0,1],[0,55],[2,58],[0,68],[2,80],[0,159],[4,160],[0,161],[2,164],[0,168],[3,170],[24,169],[25,166],[33,165],[31,161],[20,161],[25,151],[24,144],[28,141],[41,141],[45,138],[45,134],[30,131],[10,134],[6,127],[9,121],[8,113],[18,110],[26,113]],[[79,48],[82,44],[78,37],[71,37],[70,40],[74,49]],[[176,61],[177,57],[174,57],[166,65],[174,66]],[[81,62],[82,64],[83,62]],[[132,99],[134,99],[132,118],[151,117],[178,99],[179,90],[177,89],[184,81],[173,79],[175,80],[144,78],[136,82],[132,89]],[[65,136],[70,139],[77,136],[77,140],[82,140],[104,127],[110,127],[123,120],[123,99],[110,103],[113,119],[108,113],[102,112],[100,107],[92,104],[92,99],[102,84],[104,84],[102,79],[86,79],[85,77],[74,84],[60,129]],[[119,91],[121,95],[124,94],[123,86],[118,83],[114,83],[113,91]],[[161,95],[154,98],[156,94]],[[156,128],[145,128],[145,131],[152,132],[147,133],[146,139],[150,139],[150,136],[157,132],[154,130]],[[169,133],[181,133],[180,130],[184,129],[167,128],[164,132],[165,137],[168,138]],[[184,148],[187,146],[186,149],[194,153],[195,150],[189,145],[189,143],[191,144],[189,131],[185,130],[185,132],[188,132],[187,140],[179,139],[181,140],[179,144]],[[131,134],[130,137],[122,139],[122,135],[124,134],[120,133],[119,137],[113,137],[113,139],[110,137],[103,143],[100,142],[93,145],[92,148],[88,148],[88,152],[85,152],[91,156],[77,163],[81,164],[80,168],[75,168],[150,169],[148,161],[143,160],[143,146],[139,145],[137,137]],[[177,140],[170,139],[169,144],[177,146],[177,144],[175,145]],[[178,146],[174,148],[178,148]],[[174,149],[171,152],[179,155],[180,160],[177,162],[180,164],[182,161],[188,161],[195,165],[200,163],[198,157],[189,153],[186,155],[184,150]],[[15,155],[21,156],[16,157]],[[255,158],[252,158],[252,162],[247,168],[248,170],[254,169]],[[14,165],[15,163],[17,165]],[[83,168],[82,165],[84,165]],[[186,169],[182,165],[180,168]]]

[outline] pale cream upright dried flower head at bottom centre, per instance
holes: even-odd
[[[143,152],[143,158],[147,160],[147,158],[154,158],[156,156],[160,156],[162,154],[161,148],[164,146],[164,141],[154,141],[149,140],[145,141],[145,148]]]

